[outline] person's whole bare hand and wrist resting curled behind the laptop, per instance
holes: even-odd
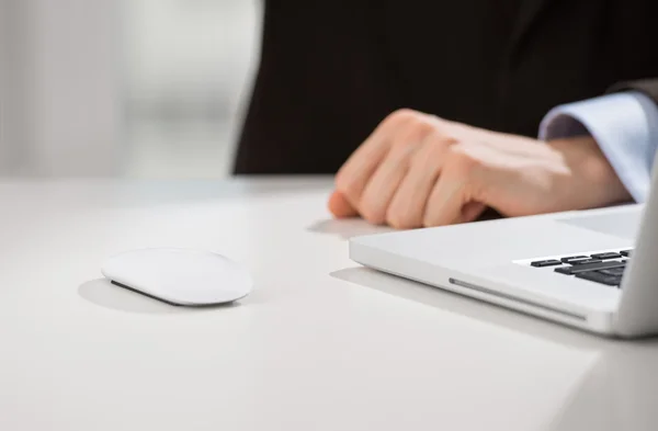
[[[538,141],[411,110],[384,120],[336,177],[329,209],[395,228],[583,209],[628,201],[589,136]]]

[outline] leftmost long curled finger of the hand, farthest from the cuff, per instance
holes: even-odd
[[[336,175],[336,188],[353,207],[358,207],[365,186],[387,156],[394,137],[419,114],[399,110],[388,115],[350,156]]]

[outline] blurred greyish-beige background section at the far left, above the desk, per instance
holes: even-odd
[[[121,27],[115,0],[0,0],[0,175],[121,174]]]

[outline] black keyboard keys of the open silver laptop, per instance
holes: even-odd
[[[559,259],[537,260],[534,268],[554,268],[568,276],[619,287],[633,250],[606,251],[604,253],[575,254]]]

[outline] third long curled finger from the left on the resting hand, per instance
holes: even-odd
[[[397,229],[422,226],[428,199],[441,173],[445,152],[453,144],[452,139],[439,133],[433,133],[424,139],[388,206],[388,225]]]

